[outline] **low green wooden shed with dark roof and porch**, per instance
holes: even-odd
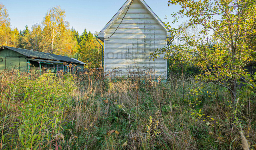
[[[0,70],[18,69],[29,72],[30,67],[35,67],[40,73],[42,71],[56,73],[60,70],[78,73],[83,71],[84,65],[87,64],[67,56],[9,46],[0,48]]]

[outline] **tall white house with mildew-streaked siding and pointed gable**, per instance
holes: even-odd
[[[143,0],[128,0],[100,31],[104,42],[104,72],[119,67],[119,75],[131,69],[153,69],[155,76],[167,78],[167,61],[150,59],[150,53],[166,46],[169,37],[164,23]],[[135,70],[136,70],[135,69]]]

